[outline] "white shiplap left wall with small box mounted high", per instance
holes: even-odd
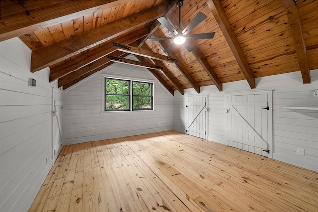
[[[30,72],[31,50],[2,41],[0,70],[0,211],[27,211],[52,167],[49,69]],[[29,87],[29,78],[36,87]],[[61,99],[62,100],[62,99]]]

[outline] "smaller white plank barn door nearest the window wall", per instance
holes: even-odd
[[[185,120],[186,133],[207,139],[208,112],[207,96],[186,97]]]

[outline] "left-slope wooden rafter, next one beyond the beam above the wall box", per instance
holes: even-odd
[[[140,30],[136,30],[135,32],[129,33],[129,36],[123,36],[118,39],[116,39],[116,43],[123,43],[125,45],[128,45],[141,37],[148,34],[148,29],[145,27]],[[81,67],[86,66],[87,64],[90,64],[102,57],[104,57],[107,54],[111,53],[111,50],[115,48],[112,44],[112,42],[105,43],[104,45],[87,52],[86,54],[79,55],[76,58],[73,58],[71,60],[66,61],[65,63],[62,63],[58,66],[55,66],[50,69],[50,82],[62,78],[63,76],[72,73],[73,71],[76,71],[80,69]]]

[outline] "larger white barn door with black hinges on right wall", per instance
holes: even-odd
[[[273,158],[272,91],[229,94],[226,104],[228,145]]]

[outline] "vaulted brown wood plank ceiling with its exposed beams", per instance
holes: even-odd
[[[123,59],[148,70],[173,95],[175,90],[300,71],[310,83],[318,69],[318,1],[316,0],[185,0],[184,28],[198,12],[207,18],[190,34],[215,32],[213,39],[191,40],[164,53],[172,33],[156,19],[178,27],[177,1],[166,0],[1,0],[1,41],[19,37],[31,50],[31,71],[50,68],[50,81],[67,89]],[[129,45],[130,50],[113,42]],[[177,59],[177,62],[167,57]],[[155,68],[154,65],[158,67]]]

